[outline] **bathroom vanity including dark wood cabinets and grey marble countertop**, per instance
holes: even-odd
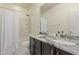
[[[61,44],[62,41],[63,44]],[[66,42],[60,38],[58,40],[58,38],[49,37],[47,40],[46,38],[31,35],[30,53],[32,55],[75,55],[79,54],[79,45],[69,41]]]

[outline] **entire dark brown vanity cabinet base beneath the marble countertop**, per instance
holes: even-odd
[[[30,37],[30,53],[31,55],[72,55],[71,53],[32,37]]]

